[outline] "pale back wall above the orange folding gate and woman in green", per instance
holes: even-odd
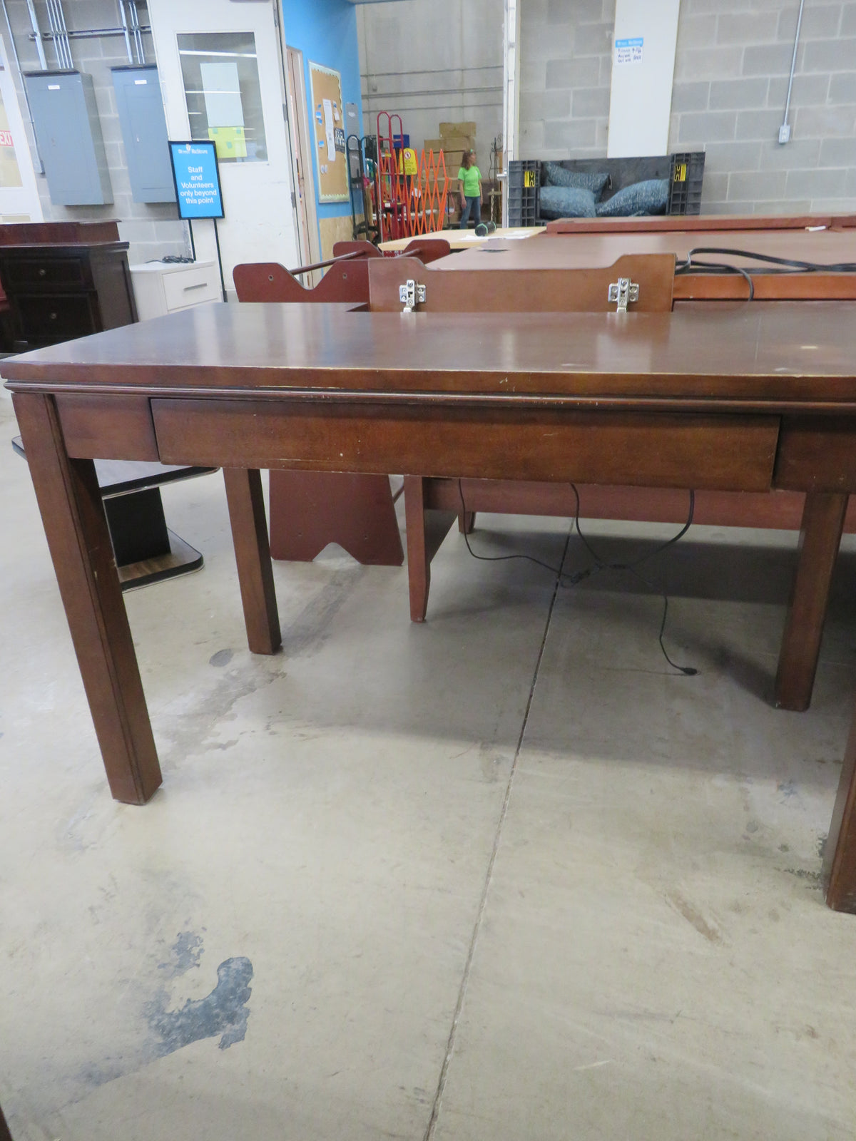
[[[486,177],[491,144],[502,133],[503,22],[502,0],[360,5],[365,132],[375,132],[378,112],[396,112],[421,147],[437,138],[441,122],[475,121]]]

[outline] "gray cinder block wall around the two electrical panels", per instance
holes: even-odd
[[[48,17],[42,0],[35,5],[37,15],[42,32],[48,31]],[[148,23],[144,3],[138,3],[140,23]],[[39,56],[35,43],[30,39],[32,26],[25,0],[7,0],[7,10],[11,24],[11,34],[21,59],[23,71],[39,71]],[[112,29],[119,26],[119,14],[113,0],[66,0],[64,5],[66,23],[70,31],[89,29]],[[0,32],[8,35],[6,22],[0,16]],[[154,64],[154,49],[150,35],[144,35],[146,63]],[[57,66],[53,43],[45,43],[45,55],[49,68]],[[24,119],[24,126],[30,141],[33,164],[37,170],[37,183],[42,211],[47,221],[98,221],[119,218],[119,234],[122,241],[129,242],[128,259],[130,262],[148,261],[161,258],[165,253],[185,252],[184,224],[178,220],[178,210],[173,203],[146,204],[134,202],[128,178],[128,162],[124,156],[124,145],[119,129],[115,92],[111,67],[128,64],[124,38],[121,35],[74,39],[71,41],[74,66],[92,76],[95,98],[98,106],[98,119],[104,136],[104,146],[110,168],[110,180],[113,187],[113,203],[106,207],[57,207],[48,195],[48,184],[43,175],[39,175],[39,160],[33,139],[26,103],[24,102],[21,75],[15,66],[14,55],[7,38],[7,54],[10,68],[18,91],[18,103]]]

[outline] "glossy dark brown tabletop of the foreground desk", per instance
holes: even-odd
[[[446,403],[693,397],[856,410],[856,302],[676,313],[197,306],[0,364],[18,391]]]

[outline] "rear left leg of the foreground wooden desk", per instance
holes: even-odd
[[[256,469],[224,468],[223,478],[226,482],[247,640],[253,654],[275,654],[282,646],[282,634],[261,493],[261,472]]]

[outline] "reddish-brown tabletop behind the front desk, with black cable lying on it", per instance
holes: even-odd
[[[751,250],[776,258],[816,261],[823,265],[856,264],[856,229],[768,230],[657,230],[654,233],[540,234],[530,242],[506,242],[492,237],[462,253],[438,258],[434,269],[591,269],[613,265],[625,253],[675,253],[684,260],[700,246]],[[709,256],[706,260],[717,260]],[[736,256],[720,258],[758,266]]]

